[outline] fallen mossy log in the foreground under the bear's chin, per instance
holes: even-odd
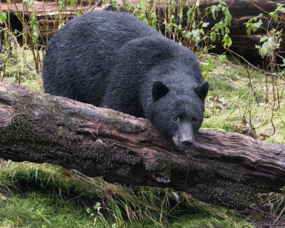
[[[200,130],[176,150],[144,118],[0,83],[0,157],[48,162],[90,177],[171,187],[244,208],[285,185],[285,145]]]

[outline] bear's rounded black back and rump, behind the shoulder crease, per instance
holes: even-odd
[[[115,53],[144,36],[161,35],[135,16],[115,11],[93,11],[68,21],[46,48],[46,93],[100,105]]]

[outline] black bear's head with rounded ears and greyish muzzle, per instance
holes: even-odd
[[[160,81],[153,83],[152,123],[180,150],[190,148],[195,142],[195,133],[203,122],[208,90],[207,81],[195,88],[187,85],[173,88]]]

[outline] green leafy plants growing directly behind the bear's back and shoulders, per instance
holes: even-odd
[[[157,4],[156,7],[155,4]],[[185,15],[182,0],[178,2],[168,0],[166,4],[162,1],[147,3],[142,0],[134,6],[133,14],[168,38],[172,38],[193,51],[208,53],[218,39],[222,40],[223,46],[232,46],[232,39],[229,37],[232,16],[225,2],[219,1],[217,5],[213,4],[202,12],[199,9],[199,1],[195,4],[187,2],[187,6]],[[158,8],[157,11],[156,8]],[[222,15],[219,21],[217,21],[218,15]],[[210,23],[210,18],[214,19],[216,24]],[[184,20],[186,24],[183,23]]]

